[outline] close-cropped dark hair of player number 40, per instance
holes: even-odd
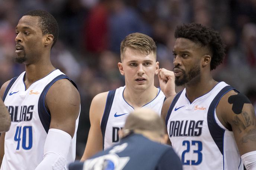
[[[26,12],[23,16],[38,16],[39,20],[39,27],[42,30],[42,34],[52,34],[53,35],[53,43],[52,47],[54,44],[57,42],[58,36],[59,36],[59,26],[52,14],[48,13],[47,11],[44,10],[31,10],[29,12]]]

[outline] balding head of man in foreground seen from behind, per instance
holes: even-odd
[[[165,134],[165,125],[152,109],[139,108],[128,115],[122,132],[124,136],[134,132],[159,141]]]

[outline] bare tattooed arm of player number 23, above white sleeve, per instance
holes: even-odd
[[[253,105],[244,103],[242,107],[237,104],[230,104],[228,98],[236,95],[238,101],[243,101],[243,96],[237,92],[230,91],[221,98],[216,113],[218,119],[227,128],[232,129],[240,155],[256,150],[256,118]],[[236,105],[236,106],[233,106]],[[232,109],[233,107],[233,109]],[[238,112],[234,107],[241,108]],[[239,109],[238,109],[239,110]]]

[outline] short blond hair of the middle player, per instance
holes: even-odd
[[[126,48],[139,50],[145,55],[154,54],[156,58],[156,43],[154,40],[143,33],[132,33],[125,37],[121,42],[120,52],[121,61],[124,59]]]

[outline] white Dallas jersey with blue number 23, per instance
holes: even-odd
[[[232,89],[220,82],[192,103],[186,98],[186,89],[173,99],[166,125],[184,170],[243,170],[233,132],[221,124],[215,111],[223,95]]]

